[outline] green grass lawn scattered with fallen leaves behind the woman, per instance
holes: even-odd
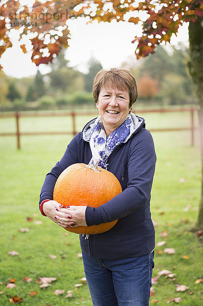
[[[142,114],[140,114],[142,115]],[[187,126],[187,114],[143,114],[148,129],[157,126]],[[77,119],[80,130],[90,117]],[[69,129],[67,118],[21,118],[22,131]],[[2,132],[14,131],[11,118],[0,119]],[[181,306],[201,306],[203,283],[202,240],[191,228],[195,222],[200,199],[200,148],[198,135],[195,145],[190,145],[189,132],[153,133],[157,152],[157,167],[151,198],[151,214],[156,224],[155,269],[153,277],[163,269],[176,275],[160,276],[153,285],[155,294],[150,305],[164,306],[171,298],[181,297]],[[22,305],[73,306],[92,305],[87,285],[75,288],[84,277],[79,237],[41,216],[38,210],[39,192],[45,177],[62,157],[70,136],[24,136],[21,150],[16,149],[15,137],[0,138],[0,305],[9,306],[15,295],[23,298]],[[28,218],[32,218],[28,221]],[[41,222],[38,222],[41,221]],[[41,224],[39,224],[41,223]],[[28,232],[20,232],[28,228]],[[163,234],[164,233],[164,234]],[[163,237],[163,235],[167,235]],[[167,254],[165,248],[174,248]],[[11,256],[9,251],[17,251]],[[49,256],[55,255],[52,259]],[[24,282],[24,277],[32,281]],[[55,277],[52,286],[41,289],[39,277]],[[10,278],[15,278],[16,288],[6,288]],[[188,286],[176,292],[175,285]],[[55,290],[65,292],[56,296]],[[67,291],[72,297],[66,298]],[[29,292],[37,291],[31,296]],[[2,293],[3,292],[3,293]],[[171,305],[176,304],[171,302]],[[170,305],[169,304],[169,305]],[[108,305],[104,305],[108,306]]]

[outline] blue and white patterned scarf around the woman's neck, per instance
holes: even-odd
[[[90,130],[89,142],[92,159],[89,164],[95,165],[98,162],[98,166],[107,169],[108,157],[114,148],[129,136],[132,126],[134,126],[134,122],[131,115],[129,115],[125,121],[107,137],[102,118],[98,116]]]

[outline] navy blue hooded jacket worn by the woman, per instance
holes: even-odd
[[[82,250],[96,259],[142,256],[155,248],[150,192],[156,154],[153,138],[145,129],[144,119],[137,118],[139,127],[113,150],[107,161],[107,169],[119,180],[122,192],[98,208],[86,209],[88,226],[118,219],[111,230],[105,233],[80,235]],[[46,175],[39,205],[45,199],[53,199],[55,183],[65,168],[74,163],[89,163],[92,154],[85,135],[94,120],[88,122],[83,131],[70,141],[61,161]]]

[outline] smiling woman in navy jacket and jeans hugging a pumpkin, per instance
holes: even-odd
[[[94,306],[147,306],[155,247],[149,208],[156,163],[154,142],[144,119],[131,113],[137,86],[128,70],[100,70],[93,96],[99,116],[71,140],[61,161],[46,175],[40,211],[66,228],[119,219],[106,233],[80,235],[92,302]],[[61,208],[53,200],[60,173],[71,164],[97,160],[114,173],[122,192],[98,208]]]

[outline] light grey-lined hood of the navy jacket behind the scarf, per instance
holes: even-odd
[[[132,136],[135,133],[137,133],[141,129],[141,127],[145,127],[144,118],[138,117],[134,113],[130,113],[130,115],[131,115],[131,118],[133,120],[133,124],[132,124],[131,129],[130,129],[130,134],[124,139],[124,141],[122,143],[125,143],[130,138],[132,138]],[[91,126],[94,124],[95,120],[96,120],[96,118],[92,119],[83,128],[82,137],[85,141],[89,142],[89,140],[90,140],[90,130],[91,130]]]

